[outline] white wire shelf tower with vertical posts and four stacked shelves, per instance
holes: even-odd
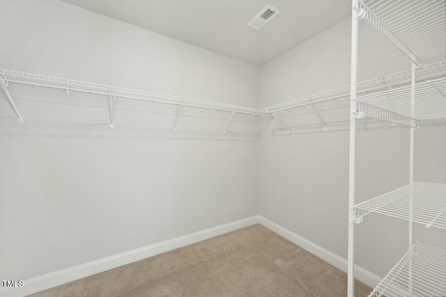
[[[350,158],[348,181],[348,297],[354,296],[355,223],[371,213],[408,220],[408,252],[369,297],[446,296],[446,250],[415,243],[413,223],[446,230],[446,184],[414,182],[415,130],[421,120],[446,118],[444,61],[446,56],[445,0],[352,0]],[[366,20],[411,62],[408,72],[392,76],[392,83],[373,90],[357,83],[358,22]],[[362,104],[383,110],[374,116],[410,127],[409,181],[389,193],[355,203],[356,121],[364,117]],[[370,116],[365,113],[365,116]],[[397,117],[398,120],[394,120]],[[401,122],[403,119],[404,122]],[[415,122],[413,122],[415,121]]]

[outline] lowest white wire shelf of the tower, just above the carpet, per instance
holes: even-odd
[[[446,250],[415,243],[369,297],[446,296]]]

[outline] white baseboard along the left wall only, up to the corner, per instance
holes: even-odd
[[[168,252],[169,250],[182,248],[183,246],[188,246],[192,243],[197,243],[205,239],[210,239],[243,227],[254,225],[259,223],[258,218],[259,216],[252,216],[242,220],[236,220],[231,223],[218,225],[217,227],[201,230],[185,236],[179,236],[160,243],[154,243],[143,248],[137,248],[128,252],[122,252],[110,257],[105,257],[85,264],[55,271],[53,273],[47,273],[36,278],[30,278],[29,280],[24,280],[23,287],[1,288],[0,296],[19,297],[43,291],[67,282],[86,278],[87,276],[94,275],[96,273],[101,273],[109,269],[130,264],[132,262],[137,262],[141,259],[153,257],[163,252]]]

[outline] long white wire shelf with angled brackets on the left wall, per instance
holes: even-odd
[[[172,118],[170,129],[173,131],[178,131],[178,123],[182,118],[195,118],[201,120],[199,125],[203,128],[210,129],[212,126],[217,132],[220,131],[228,136],[254,138],[263,136],[273,118],[273,115],[267,114],[262,109],[13,70],[0,69],[0,80],[19,122],[22,122],[22,115],[15,100],[108,109],[110,127],[115,126],[116,110],[138,111],[169,115]],[[218,123],[209,125],[208,122],[203,122],[204,120],[214,120]]]

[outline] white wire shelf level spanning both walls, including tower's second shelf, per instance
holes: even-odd
[[[148,124],[151,127],[165,122],[166,129],[185,131],[193,126],[194,131],[232,132],[233,136],[261,137],[273,118],[286,133],[302,127],[328,129],[328,125],[348,120],[351,102],[350,86],[268,106],[264,111],[12,70],[0,70],[0,80],[19,121],[22,115],[16,99],[109,109],[111,126],[115,110],[138,111],[159,115]],[[410,92],[411,70],[362,81],[357,84],[357,111],[366,118],[408,127],[418,127],[420,120],[446,118],[446,61],[417,68],[414,106]]]

